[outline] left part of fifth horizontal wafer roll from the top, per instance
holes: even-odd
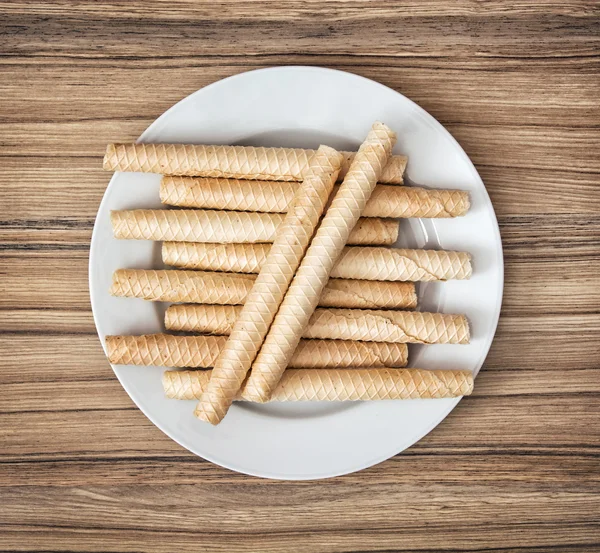
[[[246,300],[255,279],[230,273],[118,269],[110,293],[150,301],[238,305]]]

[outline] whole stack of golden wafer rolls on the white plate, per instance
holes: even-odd
[[[417,307],[416,281],[470,278],[470,255],[383,247],[397,219],[463,216],[469,195],[398,186],[407,159],[394,142],[376,123],[357,153],[109,145],[105,169],[163,175],[160,199],[175,208],[111,213],[116,238],[162,241],[173,269],[119,269],[110,292],[172,303],[165,327],[177,333],[107,336],[110,362],[195,369],[165,371],[165,395],[200,400],[196,416],[213,424],[234,400],[470,394],[468,371],[404,368],[407,344],[469,342],[464,315],[404,310]],[[302,196],[315,168],[319,192]]]

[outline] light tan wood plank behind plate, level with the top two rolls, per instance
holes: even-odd
[[[0,222],[81,218],[91,228],[111,176],[93,164],[60,156],[4,157],[3,198],[10,209],[0,213]],[[503,224],[504,217],[568,214],[575,220],[575,213],[596,215],[600,210],[595,174],[518,167],[478,169]],[[456,186],[460,187],[460,183]],[[0,233],[3,242],[4,232]]]

